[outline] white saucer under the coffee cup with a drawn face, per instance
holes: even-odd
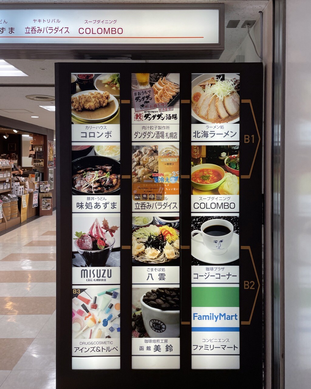
[[[211,263],[212,265],[233,262],[239,258],[239,235],[233,233],[231,245],[221,255],[214,255],[203,243],[191,240],[191,255],[199,261]]]

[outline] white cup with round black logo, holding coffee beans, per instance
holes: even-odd
[[[150,338],[178,338],[180,311],[162,311],[149,307],[143,302],[143,296],[140,298],[143,325]]]

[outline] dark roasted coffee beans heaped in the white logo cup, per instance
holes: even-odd
[[[143,302],[149,307],[163,311],[179,311],[180,290],[179,288],[151,289],[143,296]]]

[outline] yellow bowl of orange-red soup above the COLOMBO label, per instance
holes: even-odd
[[[209,179],[210,183],[207,183],[207,179],[205,182],[197,182],[197,179],[200,181],[204,181],[204,176],[208,176],[206,170],[211,170],[212,174]],[[201,191],[211,191],[213,189],[218,188],[225,180],[225,171],[222,167],[218,165],[214,165],[213,163],[202,163],[201,165],[196,165],[191,168],[191,185],[200,189]]]

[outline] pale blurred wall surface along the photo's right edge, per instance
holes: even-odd
[[[311,387],[311,1],[286,1],[285,389]]]

